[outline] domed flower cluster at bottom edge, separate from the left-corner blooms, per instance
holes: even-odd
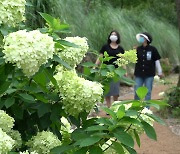
[[[60,145],[61,141],[49,131],[39,132],[27,142],[30,151],[36,151],[41,154],[49,154],[51,149]]]

